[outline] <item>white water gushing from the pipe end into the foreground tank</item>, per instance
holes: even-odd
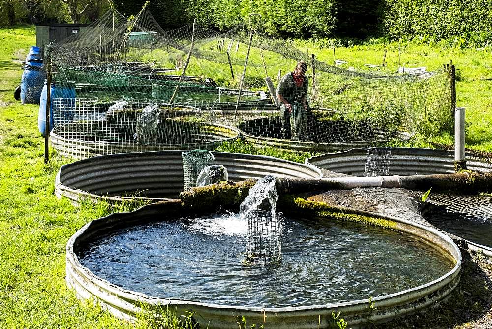
[[[262,210],[270,210],[274,214],[278,200],[277,188],[275,187],[276,182],[277,178],[272,175],[259,179],[249,190],[248,196],[239,206],[239,218],[246,221],[247,215],[258,210],[258,207],[262,204]],[[266,200],[268,200],[268,205],[264,204]]]

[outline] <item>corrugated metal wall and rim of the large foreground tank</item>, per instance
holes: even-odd
[[[169,209],[166,209],[169,208]],[[148,216],[162,214],[180,214],[179,201],[162,201],[143,206],[130,213],[113,213],[106,217],[93,220],[78,230],[66,245],[66,283],[75,290],[82,299],[94,298],[114,316],[135,321],[135,315],[142,312],[142,306],[149,308],[172,307],[176,314],[191,312],[193,318],[202,320],[202,324],[213,328],[232,328],[236,326],[233,315],[244,316],[248,323],[263,323],[267,319],[268,328],[319,328],[332,321],[332,311],[341,312],[341,316],[353,328],[364,326],[369,322],[385,322],[416,310],[435,305],[445,299],[460,280],[461,252],[456,244],[446,234],[431,227],[426,227],[411,221],[369,213],[370,216],[387,219],[397,224],[397,229],[421,237],[426,241],[433,241],[434,246],[441,249],[444,256],[453,259],[455,266],[440,278],[418,287],[410,288],[393,294],[374,297],[372,302],[375,308],[369,307],[367,299],[353,300],[342,303],[297,306],[297,307],[246,307],[213,303],[202,303],[188,300],[155,298],[143,293],[123,289],[111,282],[96,276],[88,268],[82,266],[74,248],[77,248],[87,238],[107,233],[111,229],[122,225],[142,223]],[[174,211],[174,213],[173,213]],[[357,212],[357,211],[356,211]],[[358,211],[360,214],[361,212]],[[187,215],[185,213],[184,215]],[[139,220],[142,220],[139,222]],[[420,232],[420,234],[417,234]],[[232,314],[231,314],[232,312]],[[318,322],[319,321],[319,322]]]

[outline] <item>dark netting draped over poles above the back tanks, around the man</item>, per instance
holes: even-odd
[[[128,20],[111,9],[50,49],[53,80],[75,84],[77,98],[219,111],[217,122],[256,144],[329,150],[451,124],[448,70],[383,76],[342,69],[245,23],[226,33],[199,25],[163,31],[147,10]],[[299,61],[307,67],[301,73]]]

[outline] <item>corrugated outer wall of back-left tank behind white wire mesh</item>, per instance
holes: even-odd
[[[236,128],[208,123],[199,135],[185,143],[139,144],[137,142],[93,141],[91,136],[87,138],[67,136],[58,128],[54,128],[50,135],[50,144],[62,156],[85,159],[106,154],[175,150],[177,148],[213,150],[224,142],[235,140],[238,135],[239,131]]]

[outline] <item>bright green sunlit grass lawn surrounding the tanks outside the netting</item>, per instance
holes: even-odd
[[[54,195],[59,164],[43,164],[44,139],[37,130],[38,106],[21,105],[13,99],[22,74],[20,61],[33,44],[35,33],[31,26],[0,29],[0,327],[146,328],[147,320],[130,326],[92,302],[78,301],[66,287],[68,238],[110,210],[104,203],[76,208],[67,199],[59,200]],[[331,49],[315,50],[305,42],[300,46],[311,49],[328,63],[333,59]],[[398,43],[390,44],[388,49],[388,69],[396,70]],[[336,50],[337,58],[358,63],[379,63],[383,52],[383,44]],[[459,69],[458,105],[467,107],[467,120],[471,123],[467,145],[492,151],[490,49],[439,49],[409,43],[400,56],[405,66],[427,66],[428,70],[442,67],[449,59]],[[440,135],[431,136],[431,140],[452,142],[450,136]]]

